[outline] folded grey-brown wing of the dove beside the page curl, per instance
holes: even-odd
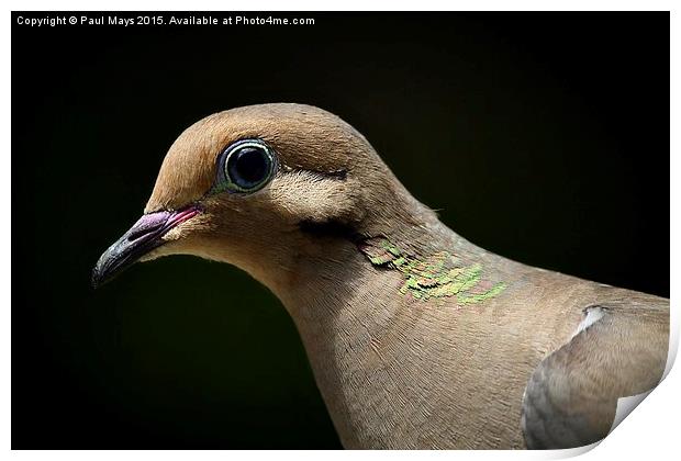
[[[523,397],[527,448],[581,447],[607,436],[617,400],[662,379],[669,304],[609,302],[584,310],[569,342],[546,357]]]

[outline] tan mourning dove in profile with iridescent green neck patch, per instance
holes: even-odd
[[[235,265],[281,300],[346,448],[592,443],[666,364],[668,300],[475,246],[314,106],[187,128],[93,284],[177,254]]]

